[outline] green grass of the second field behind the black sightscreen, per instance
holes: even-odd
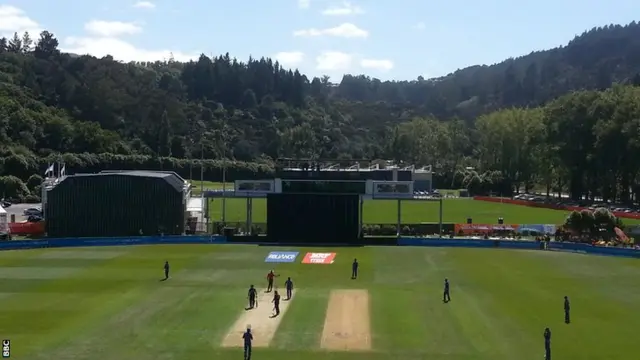
[[[505,224],[562,224],[569,212],[533,208],[521,205],[500,204],[472,199],[444,199],[443,222],[465,223],[468,217],[476,224],[497,224],[504,218]],[[222,199],[209,199],[209,217],[222,219]],[[226,221],[244,222],[247,216],[246,199],[226,199]],[[401,219],[404,224],[439,221],[439,204],[431,201],[403,201]],[[397,223],[396,200],[366,200],[363,208],[365,224]],[[266,199],[253,199],[253,222],[267,220]],[[623,219],[625,224],[639,224],[640,220]]]

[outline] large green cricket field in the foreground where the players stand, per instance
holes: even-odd
[[[271,250],[301,254],[293,264],[265,264]],[[337,252],[336,261],[300,264],[307,250]],[[350,279],[354,257],[361,264],[357,280]],[[172,277],[162,282],[165,259]],[[277,285],[291,276],[296,286],[279,320],[265,315],[266,294],[259,294],[262,310],[243,309],[249,284],[263,288],[271,267],[281,274]],[[502,249],[3,251],[0,335],[11,340],[16,359],[241,359],[241,349],[222,345],[240,336],[228,333],[243,325],[241,317],[253,316],[247,321],[256,343],[263,342],[253,349],[259,360],[540,360],[548,326],[557,359],[633,359],[638,273],[634,259]],[[452,284],[447,304],[444,278]],[[569,325],[563,323],[565,295],[572,299]],[[273,337],[264,343],[269,328]],[[336,341],[363,350],[323,349]]]

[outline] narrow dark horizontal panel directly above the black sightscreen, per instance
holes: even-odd
[[[365,181],[357,180],[282,180],[283,193],[364,195],[366,188]]]

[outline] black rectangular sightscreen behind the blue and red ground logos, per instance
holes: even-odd
[[[267,229],[272,242],[353,243],[358,239],[360,197],[268,194]]]

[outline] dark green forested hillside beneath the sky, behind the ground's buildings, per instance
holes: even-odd
[[[439,187],[475,193],[627,201],[640,190],[638,73],[636,23],[437,79],[339,84],[268,58],[121,63],[62,54],[47,31],[15,34],[0,40],[0,194],[37,195],[60,159],[67,173],[188,177],[204,156],[205,178],[220,180],[223,163],[232,179],[260,178],[277,157],[321,157],[434,165]]]

